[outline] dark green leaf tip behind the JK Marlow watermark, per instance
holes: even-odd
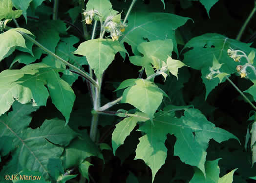
[[[17,180],[16,180],[17,178]],[[43,179],[43,175],[38,171],[29,171],[23,170],[21,171],[17,177],[14,177],[12,180],[13,183],[49,183]]]

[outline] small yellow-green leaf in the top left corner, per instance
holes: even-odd
[[[12,10],[12,0],[0,1],[0,20],[2,19],[17,19],[21,16],[22,10]]]

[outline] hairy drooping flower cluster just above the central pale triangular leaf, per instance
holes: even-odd
[[[113,41],[118,41],[119,37],[125,31],[125,27],[127,26],[121,22],[121,16],[119,15],[108,16],[104,23],[104,27],[106,31],[110,33]]]

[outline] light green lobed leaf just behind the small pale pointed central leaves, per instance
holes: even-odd
[[[171,55],[173,49],[172,40],[155,40],[150,42],[142,42],[137,46],[138,51],[143,54],[141,56],[129,57],[130,62],[137,66],[145,68],[146,74],[149,77],[154,74],[152,65],[155,65],[154,60],[166,61],[168,55]]]

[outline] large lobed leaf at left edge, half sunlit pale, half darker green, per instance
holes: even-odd
[[[68,83],[63,81],[58,72],[43,63],[30,64],[21,70],[4,70],[0,73],[0,114],[6,112],[17,100],[21,103],[34,102],[34,105],[46,105],[51,96],[54,105],[66,119],[75,100],[75,94]],[[47,88],[44,86],[47,85]]]

